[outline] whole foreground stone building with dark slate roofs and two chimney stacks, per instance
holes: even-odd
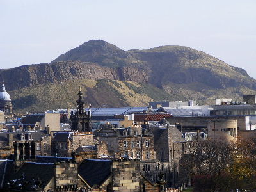
[[[97,192],[164,192],[165,181],[159,177],[150,182],[141,174],[140,160],[85,159],[80,164],[67,158],[51,157],[51,161],[27,161],[17,172],[13,161],[0,161],[0,191],[97,191]],[[1,177],[4,175],[3,177]]]

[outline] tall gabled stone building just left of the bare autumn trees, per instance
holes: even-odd
[[[156,162],[150,164],[150,171],[145,174],[148,179],[156,180],[156,175],[163,172],[166,185],[177,187],[179,161],[186,152],[186,141],[176,125],[170,125],[166,120],[163,124],[162,127],[150,127],[150,131],[154,134]]]

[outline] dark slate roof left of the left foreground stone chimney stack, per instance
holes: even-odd
[[[24,188],[27,191],[35,191],[35,182],[38,178],[42,182],[40,188],[44,189],[54,177],[53,163],[24,163],[10,181],[10,187],[15,190]]]

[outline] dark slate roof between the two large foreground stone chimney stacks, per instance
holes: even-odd
[[[111,175],[111,161],[101,159],[85,159],[78,167],[78,174],[91,187],[100,186]]]

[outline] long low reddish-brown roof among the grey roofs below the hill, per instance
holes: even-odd
[[[161,121],[163,118],[169,118],[172,115],[168,113],[149,113],[149,114],[134,114],[134,121],[144,122],[144,121]]]

